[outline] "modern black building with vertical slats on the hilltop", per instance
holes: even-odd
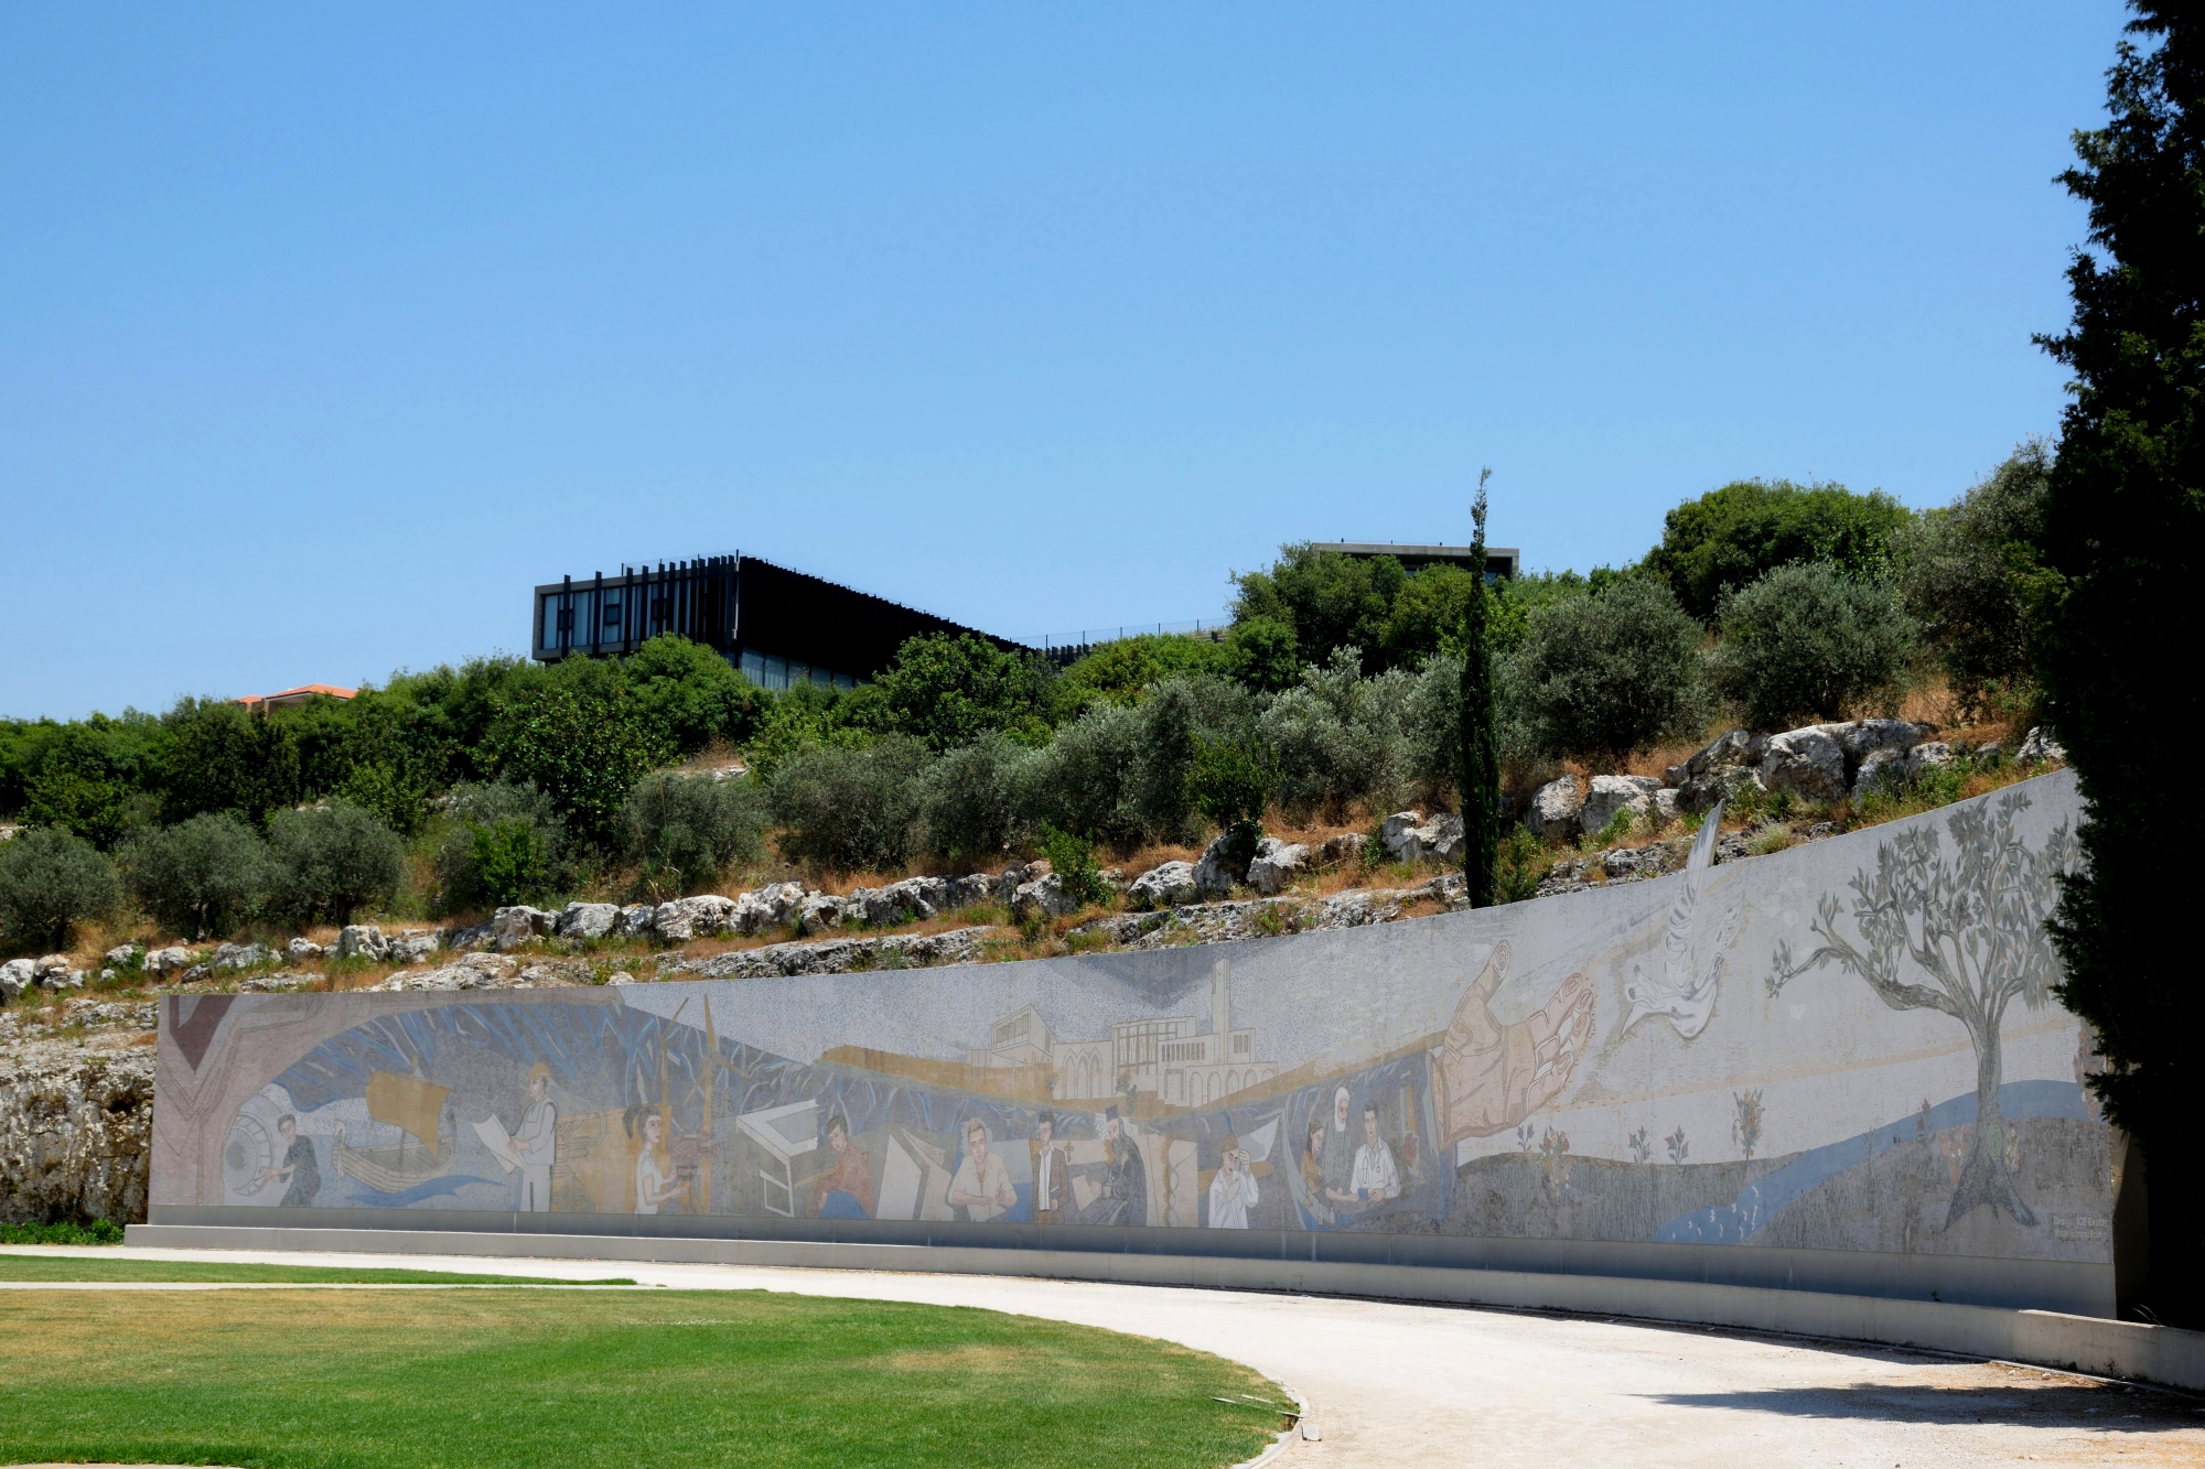
[[[761,688],[856,688],[886,668],[906,640],[926,633],[972,633],[999,648],[1021,648],[886,598],[734,554],[547,582],[536,589],[529,655],[547,664],[622,655],[659,633],[701,642]]]

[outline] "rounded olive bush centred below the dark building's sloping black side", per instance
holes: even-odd
[[[783,856],[836,871],[902,867],[919,845],[926,765],[926,746],[908,735],[796,752],[772,781]]]

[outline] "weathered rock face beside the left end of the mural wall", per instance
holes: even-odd
[[[150,1138],[150,1046],[0,1054],[0,1220],[141,1222]]]

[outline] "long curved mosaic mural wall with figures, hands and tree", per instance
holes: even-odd
[[[1023,964],[161,1012],[152,1202],[2110,1259],[2066,774],[1749,862]]]

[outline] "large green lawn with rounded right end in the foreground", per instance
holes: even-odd
[[[0,1462],[562,1469],[1250,1458],[1162,1341],[756,1290],[0,1290]]]

